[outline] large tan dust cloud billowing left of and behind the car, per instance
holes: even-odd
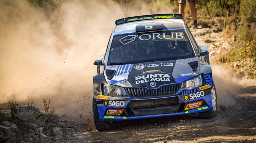
[[[33,102],[43,111],[43,99],[51,99],[59,115],[91,121],[93,62],[104,54],[115,20],[171,8],[111,0],[50,4],[44,9],[25,0],[0,1],[0,103]]]

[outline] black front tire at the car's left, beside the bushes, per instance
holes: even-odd
[[[100,121],[96,99],[93,99],[93,121],[98,131],[111,130],[112,128],[109,121]]]

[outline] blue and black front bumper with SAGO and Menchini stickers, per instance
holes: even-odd
[[[212,110],[212,82],[205,88],[180,90],[175,95],[154,98],[112,97],[94,94],[100,121],[185,115]],[[200,104],[199,104],[200,103]]]

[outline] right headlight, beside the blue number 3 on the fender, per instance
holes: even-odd
[[[182,82],[181,90],[191,90],[202,86],[202,75],[199,75],[193,79]]]

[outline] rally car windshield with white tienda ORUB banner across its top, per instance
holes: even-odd
[[[196,57],[184,30],[114,35],[108,65]]]

